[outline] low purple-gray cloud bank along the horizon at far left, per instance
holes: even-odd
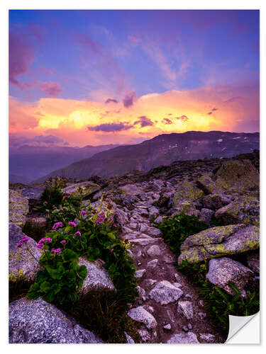
[[[9,135],[9,146],[20,147],[24,144],[39,147],[39,146],[54,146],[55,144],[69,145],[68,142],[64,142],[60,137],[55,135],[37,135],[35,137],[23,137],[21,135]]]

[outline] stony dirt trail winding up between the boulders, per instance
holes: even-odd
[[[156,194],[143,193],[134,210],[123,208],[130,222],[122,227],[122,237],[131,242],[139,280],[138,307],[128,315],[141,324],[145,343],[223,343],[226,338],[211,324],[203,299],[174,267],[174,254],[151,223],[157,213],[154,198]]]

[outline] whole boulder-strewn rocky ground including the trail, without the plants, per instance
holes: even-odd
[[[89,190],[83,205],[111,210],[123,242],[130,246],[138,296],[128,304],[138,338],[126,333],[128,343],[223,343],[221,330],[209,312],[208,300],[194,279],[178,265],[205,264],[206,280],[245,299],[257,287],[259,256],[259,152],[225,159],[175,161],[148,172],[124,176],[88,176],[86,181],[67,179],[65,193],[78,187]],[[29,238],[26,253],[18,242],[25,237],[27,220],[45,227],[35,210],[45,189],[43,183],[11,184],[9,190],[9,273],[34,279],[40,251]],[[194,215],[206,229],[182,242],[179,256],[170,250],[160,224],[173,215]],[[29,235],[27,235],[29,236]],[[176,235],[177,239],[179,235]],[[33,257],[34,256],[34,257]],[[115,287],[101,261],[80,258],[87,268],[82,290]],[[205,275],[204,275],[205,277]],[[205,279],[205,278],[204,278]],[[104,343],[94,331],[43,299],[21,297],[9,304],[10,343]]]

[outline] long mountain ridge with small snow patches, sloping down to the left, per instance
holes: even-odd
[[[94,154],[64,169],[38,178],[37,183],[53,176],[87,179],[91,176],[123,175],[133,170],[149,171],[173,161],[232,157],[260,149],[260,134],[235,132],[184,132],[162,134],[140,144],[124,145]]]

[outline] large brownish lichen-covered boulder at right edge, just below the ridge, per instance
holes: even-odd
[[[223,162],[216,172],[215,183],[222,190],[248,191],[258,188],[260,175],[250,160],[229,160]]]

